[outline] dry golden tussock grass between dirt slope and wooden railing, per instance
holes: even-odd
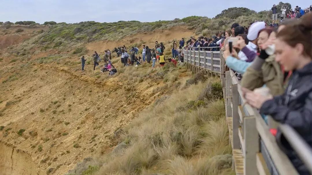
[[[217,81],[191,84],[146,108],[116,135],[112,153],[97,155],[94,174],[232,174],[224,102],[199,100]]]

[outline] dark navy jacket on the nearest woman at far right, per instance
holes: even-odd
[[[312,62],[295,70],[286,92],[263,103],[260,113],[271,115],[280,123],[288,124],[311,146],[312,144]],[[278,130],[276,141],[290,158],[299,174],[309,174],[283,134]]]

